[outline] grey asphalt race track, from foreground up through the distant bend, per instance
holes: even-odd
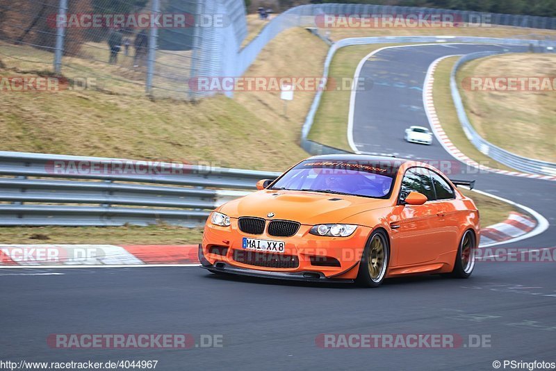
[[[358,149],[453,160],[436,141],[430,147],[403,141],[407,126],[428,126],[419,90],[425,72],[439,56],[497,48],[434,45],[377,53],[361,71],[378,83],[357,94]],[[477,179],[478,189],[534,208],[554,224],[555,183],[468,177]],[[513,245],[550,247],[555,236],[551,225]],[[493,361],[556,361],[555,278],[554,263],[507,262],[479,262],[468,280],[411,277],[378,289],[223,278],[198,267],[0,270],[0,349],[13,360],[158,360],[156,370],[493,370]],[[223,346],[52,349],[47,337],[53,333],[222,335]],[[316,341],[322,333],[456,334],[468,346],[323,349]],[[471,347],[469,335],[489,343]]]

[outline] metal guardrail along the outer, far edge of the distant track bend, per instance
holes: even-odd
[[[525,39],[500,39],[500,38],[480,38],[480,37],[462,37],[462,36],[383,36],[383,37],[370,37],[370,38],[346,38],[339,40],[338,42],[334,42],[332,47],[328,50],[327,57],[325,59],[325,65],[322,72],[322,77],[324,79],[328,78],[330,64],[332,63],[332,59],[336,54],[338,49],[343,47],[350,47],[354,45],[366,45],[366,44],[403,44],[403,43],[414,43],[414,44],[423,44],[423,43],[433,43],[433,42],[469,42],[469,43],[481,43],[481,44],[501,44],[501,45],[509,45],[509,46],[528,46],[532,49],[540,51],[541,49],[545,49],[546,47],[556,47],[555,41],[549,40],[525,40]],[[307,113],[305,117],[305,122],[302,126],[301,130],[301,147],[308,151],[310,154],[332,154],[332,153],[344,153],[345,151],[341,149],[337,149],[334,152],[333,147],[328,147],[326,145],[321,145],[320,143],[313,142],[309,140],[307,137],[309,136],[309,132],[311,131],[311,127],[313,126],[313,122],[315,120],[315,115],[318,110],[318,106],[320,105],[320,99],[322,98],[322,90],[316,92],[315,97],[313,99],[313,103],[311,104],[311,108],[309,109],[309,113]],[[346,117],[347,119],[347,117]],[[501,161],[500,161],[501,162]]]

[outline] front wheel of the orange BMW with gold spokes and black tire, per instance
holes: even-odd
[[[361,255],[356,282],[363,287],[378,287],[386,277],[390,246],[384,231],[375,231]]]

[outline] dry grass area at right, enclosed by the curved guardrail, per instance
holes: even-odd
[[[473,127],[493,145],[520,156],[556,163],[556,92],[462,89],[473,76],[556,76],[556,55],[512,53],[480,58],[459,69],[457,81]]]

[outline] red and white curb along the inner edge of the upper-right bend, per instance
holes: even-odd
[[[436,139],[438,139],[439,142],[441,143],[442,147],[444,147],[444,149],[448,151],[449,154],[451,154],[452,156],[460,160],[462,163],[465,163],[466,165],[469,166],[477,167],[480,170],[486,170],[489,172],[494,172],[496,174],[505,174],[511,176],[521,176],[524,178],[545,179],[549,181],[556,181],[556,176],[528,174],[523,172],[509,172],[507,170],[494,169],[493,167],[482,165],[480,163],[477,163],[477,161],[472,160],[471,158],[468,158],[466,155],[461,153],[461,151],[459,151],[459,149],[457,149],[457,147],[450,141],[450,138],[448,138],[448,135],[446,135],[446,133],[442,129],[442,126],[439,121],[439,117],[436,115],[436,109],[434,108],[434,100],[432,97],[432,88],[434,85],[433,75],[438,64],[444,58],[450,58],[454,56],[458,56],[458,54],[443,56],[441,58],[434,60],[434,62],[429,66],[427,70],[427,76],[425,77],[425,85],[423,86],[423,105],[425,106],[425,113],[427,113],[427,117],[429,119],[430,126],[432,127],[432,131],[434,132]]]

